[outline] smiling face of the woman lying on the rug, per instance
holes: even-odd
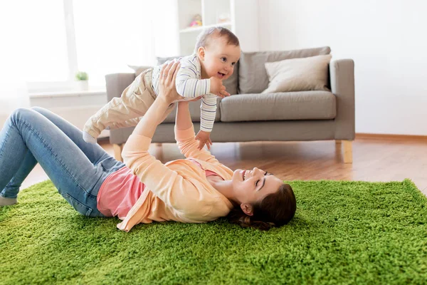
[[[234,196],[240,204],[260,202],[283,185],[283,181],[278,177],[256,167],[253,170],[235,170],[232,182]]]

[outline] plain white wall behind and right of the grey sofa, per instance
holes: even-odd
[[[356,132],[427,135],[427,1],[259,0],[260,50],[330,46],[355,65]]]

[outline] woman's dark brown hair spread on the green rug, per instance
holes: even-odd
[[[240,204],[236,204],[227,216],[228,222],[239,224],[241,227],[262,230],[280,227],[288,224],[294,216],[297,201],[292,187],[284,183],[277,192],[265,196],[262,201],[253,204],[252,207],[253,215],[248,216],[243,212]]]

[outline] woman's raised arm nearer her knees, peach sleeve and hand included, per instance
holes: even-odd
[[[167,106],[180,96],[176,93],[173,76],[176,74],[177,63],[169,64],[162,69],[162,78],[159,81],[159,95],[149,110],[139,121],[132,135],[123,147],[122,156],[132,172],[151,190],[154,195],[162,199],[174,209],[188,212],[193,206],[193,199],[182,199],[185,195],[199,197],[198,189],[178,172],[170,170],[155,157],[149,154],[148,149],[154,131],[162,120]],[[166,75],[166,76],[163,76]]]

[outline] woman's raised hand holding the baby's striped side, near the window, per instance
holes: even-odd
[[[159,98],[165,100],[168,104],[183,97],[176,92],[175,81],[179,70],[179,61],[171,61],[165,64],[160,71],[159,78]]]

